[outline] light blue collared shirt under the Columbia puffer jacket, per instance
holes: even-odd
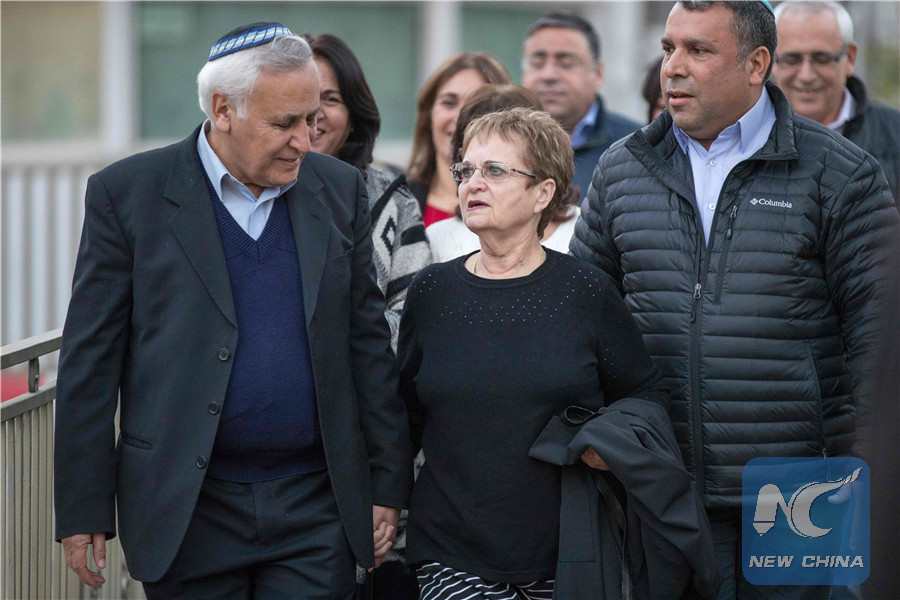
[[[677,125],[672,125],[678,145],[691,161],[694,198],[697,200],[697,210],[703,222],[703,234],[707,243],[725,178],[738,163],[750,158],[765,145],[773,125],[775,107],[765,90],[753,108],[719,134],[709,150]]]

